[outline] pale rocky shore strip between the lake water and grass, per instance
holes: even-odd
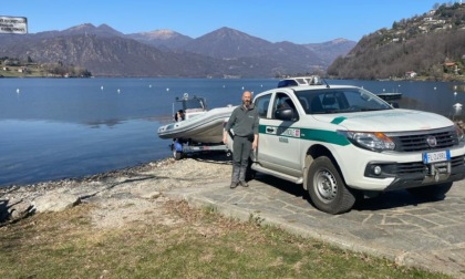
[[[166,158],[83,178],[4,187],[0,188],[0,225],[90,203],[97,226],[124,226],[167,202],[164,192],[227,182],[230,169],[230,157],[213,154],[182,161]]]

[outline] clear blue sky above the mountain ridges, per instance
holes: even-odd
[[[457,0],[459,1],[459,0]],[[107,24],[128,34],[169,29],[193,39],[228,27],[270,42],[359,41],[444,0],[10,0],[0,16],[28,18],[29,33]]]

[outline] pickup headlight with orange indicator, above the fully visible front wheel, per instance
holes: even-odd
[[[380,132],[340,131],[352,144],[375,152],[393,151],[395,143]]]

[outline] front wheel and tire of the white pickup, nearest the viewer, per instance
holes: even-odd
[[[345,186],[330,158],[316,158],[309,167],[307,179],[310,199],[321,211],[342,214],[355,204],[355,195]]]

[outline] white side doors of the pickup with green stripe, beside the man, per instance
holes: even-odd
[[[264,167],[299,176],[301,175],[300,126],[296,103],[287,93],[276,92],[271,100],[270,96],[271,94],[264,95],[260,97],[262,100],[256,100],[258,107],[268,101],[266,117],[260,116],[259,121],[259,143],[255,154],[256,161]],[[292,121],[281,121],[275,117],[276,110],[283,106],[294,111],[296,117]]]

